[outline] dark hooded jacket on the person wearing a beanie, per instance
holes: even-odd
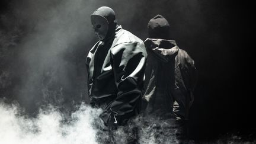
[[[194,61],[174,40],[146,39],[143,111],[159,119],[187,119],[197,81]]]

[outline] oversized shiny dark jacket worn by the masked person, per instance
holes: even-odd
[[[138,37],[117,27],[107,41],[98,41],[87,57],[91,105],[103,108],[106,124],[124,123],[140,111],[146,49]]]

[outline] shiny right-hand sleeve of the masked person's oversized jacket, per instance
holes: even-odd
[[[118,92],[101,117],[107,125],[121,125],[139,112],[146,50],[142,43],[121,43],[111,49],[111,65]]]

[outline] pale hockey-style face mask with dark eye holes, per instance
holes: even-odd
[[[100,15],[91,15],[91,24],[99,40],[104,40],[108,33],[108,21]]]

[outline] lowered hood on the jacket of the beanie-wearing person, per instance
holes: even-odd
[[[152,52],[159,60],[168,62],[172,57],[177,56],[178,46],[175,40],[146,39],[144,41],[148,52]]]

